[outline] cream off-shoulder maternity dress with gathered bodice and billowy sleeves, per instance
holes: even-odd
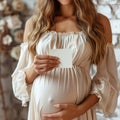
[[[50,49],[71,49],[72,68],[55,68],[39,75],[31,85],[25,82],[25,69],[33,62],[28,51],[28,43],[21,44],[21,54],[12,74],[15,96],[22,105],[29,103],[28,120],[42,120],[42,113],[59,111],[56,103],[80,104],[88,94],[96,94],[99,102],[75,120],[96,120],[96,108],[105,115],[114,112],[118,97],[116,60],[113,46],[108,43],[102,63],[97,73],[90,75],[92,49],[83,32],[45,32],[37,46],[39,55],[48,54]]]

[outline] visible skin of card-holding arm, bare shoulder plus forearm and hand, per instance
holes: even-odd
[[[34,19],[36,19],[35,16],[31,17],[26,22],[25,31],[24,31],[24,42],[29,41],[28,35],[34,29],[34,25],[33,25]],[[49,56],[49,55],[36,55],[34,57],[31,66],[25,70],[26,83],[31,84],[38,75],[50,71],[53,68],[56,68],[59,63],[60,62],[57,57]]]

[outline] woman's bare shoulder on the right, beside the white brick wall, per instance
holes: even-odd
[[[98,20],[104,27],[107,42],[112,43],[112,30],[109,19],[105,15],[98,13]]]

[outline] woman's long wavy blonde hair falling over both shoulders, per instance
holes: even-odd
[[[105,54],[106,40],[104,28],[98,20],[98,14],[92,0],[73,0],[77,26],[84,32],[89,41],[93,55],[91,62],[99,64]],[[34,29],[29,34],[29,51],[32,56],[36,55],[36,45],[41,35],[49,30],[54,24],[60,4],[57,0],[37,0],[36,19]]]

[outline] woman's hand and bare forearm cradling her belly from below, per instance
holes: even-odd
[[[92,108],[99,98],[90,94],[88,97],[79,105],[75,104],[56,104],[56,108],[61,109],[61,111],[52,114],[43,114],[43,120],[72,120],[86,113],[90,108]]]

